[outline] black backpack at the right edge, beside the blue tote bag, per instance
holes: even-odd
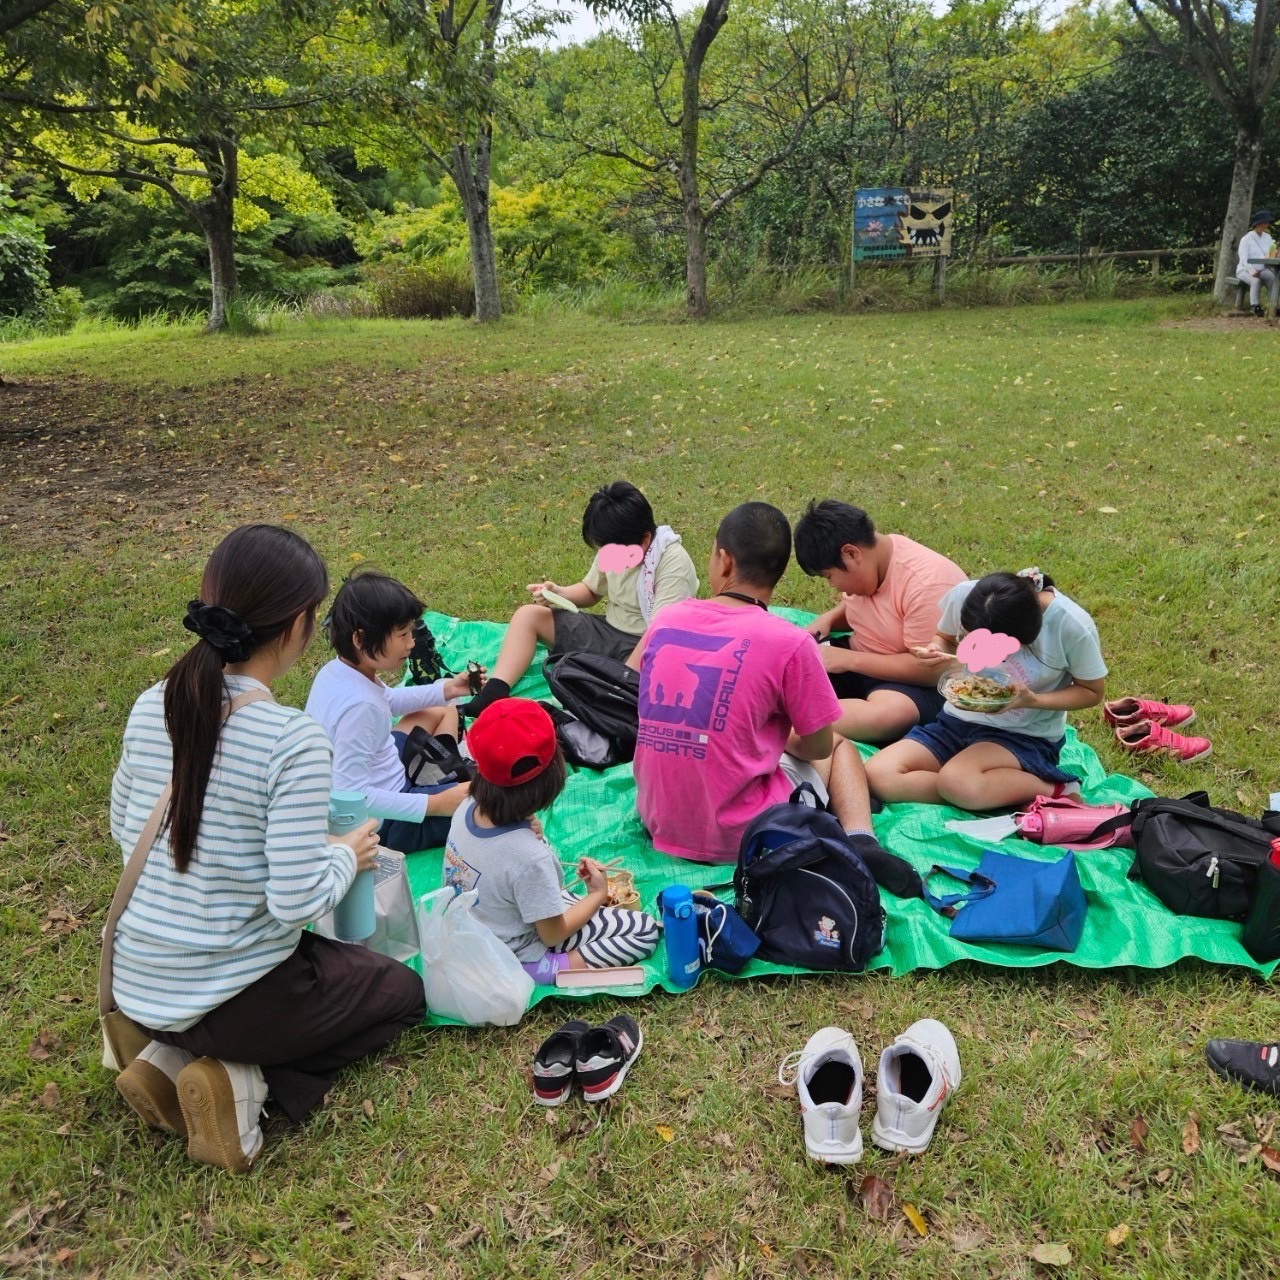
[[[1144,881],[1178,915],[1243,920],[1249,914],[1258,868],[1280,835],[1280,814],[1245,818],[1193,791],[1181,800],[1139,800],[1132,818],[1130,879]]]

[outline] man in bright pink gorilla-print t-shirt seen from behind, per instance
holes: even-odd
[[[832,732],[840,704],[818,645],[768,612],[790,558],[777,507],[735,507],[712,547],[712,599],[669,604],[645,631],[636,805],[663,852],[733,861],[751,819],[800,782],[829,803],[855,849],[879,852],[861,760]]]

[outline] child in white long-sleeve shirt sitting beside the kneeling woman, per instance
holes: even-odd
[[[370,814],[385,819],[379,841],[410,854],[444,844],[449,819],[470,790],[467,783],[412,783],[401,763],[415,727],[457,739],[458,713],[448,700],[467,692],[466,673],[394,689],[379,677],[403,668],[424,608],[385,573],[352,573],[326,621],[338,657],[316,675],[306,707],[333,744],[334,790],[364,792]]]

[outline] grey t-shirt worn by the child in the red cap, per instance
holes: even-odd
[[[527,822],[481,827],[475,801],[463,800],[449,824],[440,882],[456,892],[476,890],[475,916],[516,952],[538,961],[547,946],[532,927],[564,911],[564,873],[545,840]]]

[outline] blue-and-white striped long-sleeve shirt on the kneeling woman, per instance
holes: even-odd
[[[264,687],[227,676],[228,696]],[[275,703],[223,726],[196,851],[182,874],[166,832],[115,934],[114,995],[143,1027],[186,1030],[293,954],[302,925],[351,887],[355,855],[325,836],[332,751],[319,724]],[[111,783],[125,861],[173,772],[164,686],[133,704]]]

